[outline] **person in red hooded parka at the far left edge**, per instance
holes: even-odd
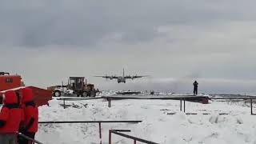
[[[0,113],[0,143],[16,144],[17,131],[22,121],[22,109],[14,90],[6,91],[3,95],[3,106]]]

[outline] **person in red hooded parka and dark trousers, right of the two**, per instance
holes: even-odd
[[[20,128],[22,134],[33,138],[38,132],[38,106],[34,102],[34,94],[30,88],[20,90],[22,95],[22,109],[24,111],[24,122]],[[19,144],[29,144],[29,140],[22,138]]]

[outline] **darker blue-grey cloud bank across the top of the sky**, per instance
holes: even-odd
[[[245,4],[246,3],[246,4]],[[0,1],[0,42],[14,46],[97,44],[112,33],[123,42],[159,36],[158,26],[203,25],[252,18],[254,1]],[[161,34],[160,34],[161,35]]]

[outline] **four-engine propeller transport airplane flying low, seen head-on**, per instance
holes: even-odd
[[[126,79],[132,79],[134,80],[135,78],[143,78],[143,77],[148,77],[149,75],[133,75],[133,76],[130,76],[130,75],[126,75],[125,76],[125,70],[123,69],[122,70],[122,76],[115,76],[115,75],[112,75],[112,76],[108,76],[108,75],[105,75],[105,76],[94,76],[94,77],[102,77],[102,78],[106,78],[106,79],[118,79],[118,83],[126,83]]]

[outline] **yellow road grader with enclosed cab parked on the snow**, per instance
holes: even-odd
[[[50,86],[54,97],[61,96],[78,96],[78,97],[95,97],[98,90],[95,90],[94,84],[87,84],[85,77],[70,77],[68,84],[64,86]]]

